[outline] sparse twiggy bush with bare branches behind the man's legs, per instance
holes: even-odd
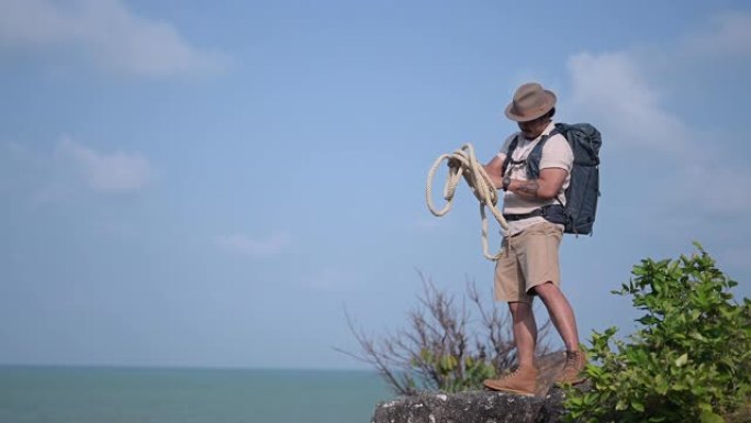
[[[508,313],[486,305],[474,283],[467,285],[461,303],[421,275],[423,292],[396,333],[373,337],[349,327],[361,352],[338,349],[373,366],[399,394],[421,391],[458,392],[482,389],[482,381],[511,368],[516,361]],[[502,314],[503,313],[503,314]],[[541,326],[539,338],[550,329]],[[548,354],[545,342],[538,353]]]

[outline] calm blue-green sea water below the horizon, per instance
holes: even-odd
[[[374,372],[0,367],[0,423],[367,423]]]

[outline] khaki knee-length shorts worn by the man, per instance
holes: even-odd
[[[541,222],[503,240],[503,253],[495,263],[495,299],[531,303],[530,289],[545,283],[561,283],[558,247],[563,231]]]

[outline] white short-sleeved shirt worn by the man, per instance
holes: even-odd
[[[503,143],[503,147],[501,147],[501,151],[498,152],[497,156],[501,158],[501,160],[504,160],[506,158],[506,154],[508,152],[508,146],[511,142],[514,140],[514,137],[517,137],[518,142],[516,144],[516,148],[514,149],[512,159],[515,162],[525,162],[527,159],[527,156],[529,156],[529,153],[531,153],[531,151],[540,142],[542,136],[550,134],[550,132],[552,132],[552,130],[554,129],[556,125],[551,122],[545,129],[545,131],[542,131],[542,134],[540,136],[531,141],[525,138],[519,133],[514,133],[511,136],[508,136],[506,141]],[[569,187],[569,181],[571,179],[571,168],[573,167],[573,152],[571,151],[569,142],[565,141],[565,137],[563,137],[563,135],[561,134],[554,134],[550,136],[548,141],[545,143],[545,146],[542,147],[542,157],[540,158],[540,170],[551,167],[563,169],[568,172],[568,175],[565,176],[565,180],[563,181],[563,186],[561,187],[561,190],[558,192],[557,199],[553,198],[550,200],[528,200],[517,196],[514,192],[506,191],[503,196],[503,213],[530,213],[535,209],[539,209],[542,205],[557,204],[559,203],[559,201],[561,204],[565,204],[564,192],[565,189]],[[527,166],[525,164],[509,164],[508,169],[506,169],[506,172],[511,176],[512,179],[529,179],[527,176]],[[508,222],[508,235],[517,234],[522,232],[524,229],[531,226],[535,223],[543,221],[545,219],[542,216],[536,216]]]

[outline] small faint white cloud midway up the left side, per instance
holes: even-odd
[[[88,185],[99,192],[136,191],[148,185],[154,171],[148,160],[138,154],[98,153],[69,137],[59,143],[64,157],[70,158]]]

